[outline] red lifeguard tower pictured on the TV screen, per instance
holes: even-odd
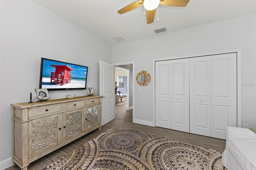
[[[71,82],[70,71],[73,71],[67,65],[51,65],[55,67],[55,72],[51,73],[51,82],[57,85],[64,85]]]

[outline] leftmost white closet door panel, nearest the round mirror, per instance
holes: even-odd
[[[155,124],[171,128],[171,61],[155,63]]]

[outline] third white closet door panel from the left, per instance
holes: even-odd
[[[190,133],[211,136],[211,56],[190,58]]]

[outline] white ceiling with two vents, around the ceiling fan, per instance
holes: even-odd
[[[256,13],[256,0],[190,0],[186,7],[160,5],[159,21],[156,11],[154,22],[147,24],[143,6],[117,13],[136,0],[34,1],[111,45]],[[167,31],[155,34],[162,27]],[[113,40],[117,36],[125,41]]]

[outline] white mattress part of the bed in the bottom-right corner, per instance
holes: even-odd
[[[241,170],[241,167],[244,170],[256,170],[256,142],[228,138],[222,159],[228,170]],[[232,159],[235,159],[238,164]]]

